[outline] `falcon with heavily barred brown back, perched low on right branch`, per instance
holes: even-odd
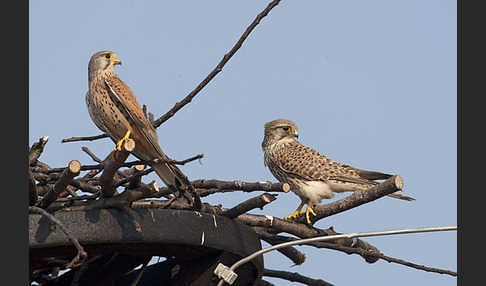
[[[287,119],[276,119],[265,124],[265,137],[262,148],[265,165],[282,183],[288,183],[291,190],[302,200],[297,210],[285,219],[305,213],[310,224],[309,213],[322,199],[334,197],[334,193],[352,192],[369,189],[391,175],[374,171],[365,171],[337,163],[321,153],[300,144],[297,125]],[[407,201],[411,197],[390,194],[389,196]],[[307,209],[302,211],[304,204]]]

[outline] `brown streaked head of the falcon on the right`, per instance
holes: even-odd
[[[299,137],[299,133],[294,122],[287,119],[276,119],[265,123],[265,137],[262,145],[293,141],[297,137]]]

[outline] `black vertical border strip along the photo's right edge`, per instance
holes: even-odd
[[[482,3],[458,2],[458,285],[484,284],[484,236],[480,232],[486,202],[482,166],[486,120],[480,101],[486,95],[486,45]]]

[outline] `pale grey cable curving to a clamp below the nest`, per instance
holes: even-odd
[[[311,238],[304,238],[289,242],[284,242],[281,244],[273,245],[268,248],[259,250],[250,254],[249,256],[238,260],[235,264],[233,264],[228,271],[234,274],[236,268],[240,267],[241,265],[251,261],[255,257],[267,253],[272,250],[280,249],[283,247],[291,246],[291,245],[299,245],[299,244],[306,244],[309,242],[314,241],[325,241],[325,240],[332,240],[338,238],[355,238],[355,237],[367,237],[367,236],[383,236],[383,235],[392,235],[392,234],[406,234],[406,233],[418,233],[418,232],[433,232],[433,231],[449,231],[449,230],[457,230],[457,226],[442,226],[442,227],[429,227],[429,228],[414,228],[414,229],[399,229],[399,230],[388,230],[388,231],[375,231],[375,232],[361,232],[361,233],[348,233],[348,234],[338,234],[338,235],[326,235],[326,236],[318,236],[318,237],[311,237]],[[216,272],[216,271],[215,271]],[[215,273],[218,275],[218,273]],[[236,275],[236,274],[235,274]],[[219,276],[219,275],[218,275]],[[218,282],[217,286],[223,286],[224,279],[221,278]],[[233,283],[231,283],[233,284]]]

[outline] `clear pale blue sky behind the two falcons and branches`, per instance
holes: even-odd
[[[73,159],[92,164],[81,146],[104,157],[113,148],[107,139],[60,143],[100,133],[84,99],[93,53],[116,52],[120,77],[158,117],[206,77],[268,2],[30,1],[30,144],[49,136],[41,160],[53,167]],[[193,102],[157,129],[160,145],[174,159],[204,153],[202,164],[181,167],[190,179],[276,181],[263,165],[263,124],[291,119],[303,144],[357,168],[399,174],[404,194],[417,199],[381,198],[317,227],[346,233],[456,225],[456,7],[444,0],[282,1]],[[254,195],[205,201],[232,207]],[[294,194],[281,194],[254,213],[283,217],[298,204]],[[365,240],[388,256],[457,270],[456,232]],[[303,265],[291,267],[275,252],[265,266],[335,285],[457,282],[298,248],[307,255]]]

